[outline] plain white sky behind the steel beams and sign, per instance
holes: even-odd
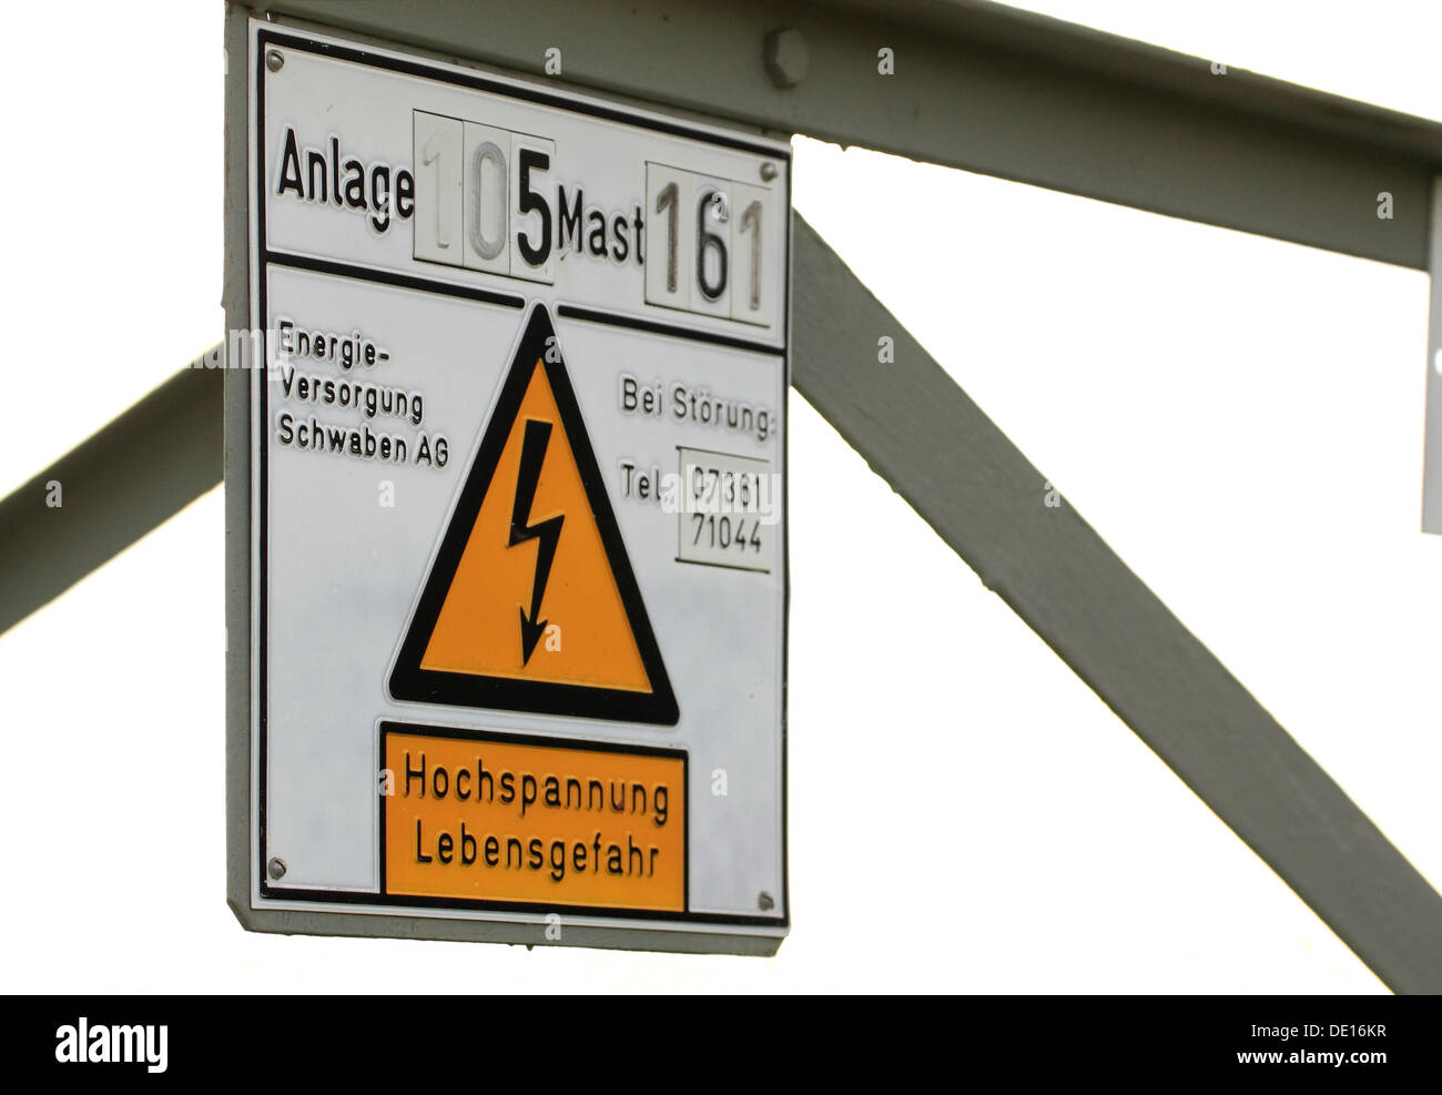
[[[63,35],[68,59],[13,49],[0,68],[0,147],[17,153],[0,173],[0,493],[224,329],[221,4],[149,7],[7,13],[12,42]],[[1031,7],[1442,117],[1433,3]],[[1417,531],[1426,277],[813,141],[795,196],[1442,883],[1442,538]],[[947,216],[923,231],[900,209]],[[225,906],[212,492],[0,636],[0,984],[1381,990],[800,398],[792,415],[777,958],[242,932]]]

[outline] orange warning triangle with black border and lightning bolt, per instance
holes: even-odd
[[[389,690],[461,707],[678,718],[544,304],[526,320]]]

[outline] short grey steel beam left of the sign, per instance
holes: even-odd
[[[215,346],[0,501],[0,632],[221,482],[219,361]]]

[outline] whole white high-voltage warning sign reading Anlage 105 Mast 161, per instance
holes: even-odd
[[[228,26],[236,916],[773,954],[789,143]]]

